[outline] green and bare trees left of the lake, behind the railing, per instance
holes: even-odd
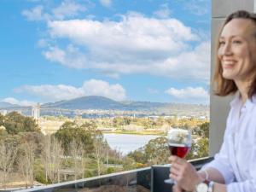
[[[0,127],[0,183],[4,189],[20,178],[29,187],[34,181],[59,183],[133,167],[128,157],[109,148],[94,122],[78,125],[67,121],[55,134],[44,136],[34,119],[13,112],[0,115]]]

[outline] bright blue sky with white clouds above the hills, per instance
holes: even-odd
[[[209,103],[210,0],[0,0],[0,101]]]

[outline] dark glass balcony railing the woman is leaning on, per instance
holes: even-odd
[[[212,158],[190,160],[201,168]],[[164,183],[169,175],[170,165],[151,166],[127,172],[118,172],[99,177],[90,177],[71,182],[50,184],[20,192],[171,192],[171,185]],[[10,190],[9,190],[10,191]]]

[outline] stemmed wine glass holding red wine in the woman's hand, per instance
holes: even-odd
[[[172,128],[167,133],[167,141],[170,153],[172,155],[177,155],[180,158],[184,158],[191,148],[191,131]],[[165,180],[165,183],[173,184],[174,181],[171,178],[168,178]]]

